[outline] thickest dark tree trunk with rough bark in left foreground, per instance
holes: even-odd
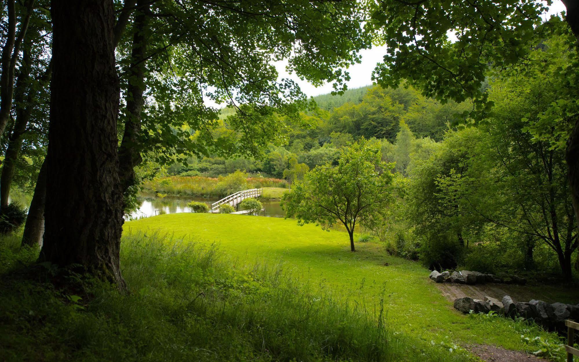
[[[53,0],[53,75],[39,260],[82,265],[124,288],[112,0]]]

